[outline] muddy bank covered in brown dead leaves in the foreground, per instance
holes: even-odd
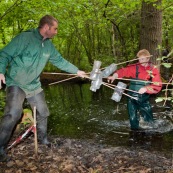
[[[1,173],[171,173],[171,156],[136,148],[111,147],[87,140],[51,137],[52,146],[39,145],[34,137],[9,151],[11,161],[0,163]]]

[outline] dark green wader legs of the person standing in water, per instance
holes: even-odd
[[[128,108],[131,129],[139,128],[138,112],[140,112],[141,116],[144,118],[144,121],[146,122],[153,121],[153,113],[149,100],[148,99],[145,99],[143,101],[141,100],[142,99],[134,100],[128,98],[127,108]]]

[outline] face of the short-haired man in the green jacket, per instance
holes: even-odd
[[[54,21],[52,26],[47,25],[46,30],[45,30],[46,38],[53,38],[58,32],[57,30],[58,30],[57,22]]]

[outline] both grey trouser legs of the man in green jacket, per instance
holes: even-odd
[[[4,116],[0,124],[0,148],[7,147],[12,132],[21,118],[25,98],[25,92],[19,87],[10,86],[7,88]],[[42,140],[47,137],[47,117],[49,116],[44,92],[27,98],[27,101],[32,109],[36,106],[38,138]]]

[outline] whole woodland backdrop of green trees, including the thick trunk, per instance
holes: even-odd
[[[80,69],[90,72],[94,60],[102,67],[126,62],[145,48],[172,82],[172,0],[0,0],[0,49],[46,14],[59,21],[55,47]],[[57,69],[48,63],[45,71]]]

